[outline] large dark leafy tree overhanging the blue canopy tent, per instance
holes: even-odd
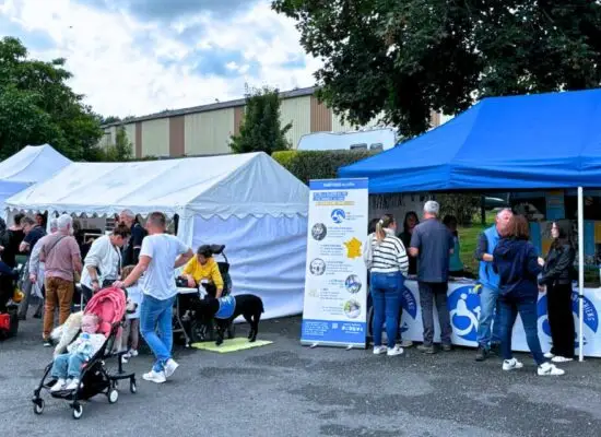
[[[353,123],[424,132],[429,111],[601,83],[601,4],[559,0],[275,0],[323,60],[319,97]]]

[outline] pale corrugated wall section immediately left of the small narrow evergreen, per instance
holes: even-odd
[[[234,108],[187,115],[184,121],[186,155],[229,153]]]

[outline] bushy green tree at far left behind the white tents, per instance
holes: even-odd
[[[19,39],[0,39],[0,158],[42,143],[72,160],[94,152],[101,117],[67,85],[64,63],[28,59]]]

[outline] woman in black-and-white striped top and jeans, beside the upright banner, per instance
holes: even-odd
[[[385,214],[370,235],[370,288],[374,302],[374,354],[401,355],[403,349],[394,345],[399,328],[401,291],[409,270],[409,259],[403,243],[394,236],[397,222],[392,214]],[[381,344],[381,331],[386,321],[388,347]]]

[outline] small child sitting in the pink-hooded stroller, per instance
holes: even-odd
[[[85,315],[82,318],[82,333],[67,346],[67,354],[58,355],[52,364],[51,375],[57,382],[50,391],[75,390],[80,385],[82,366],[101,350],[106,336],[96,333],[99,320],[95,315]]]

